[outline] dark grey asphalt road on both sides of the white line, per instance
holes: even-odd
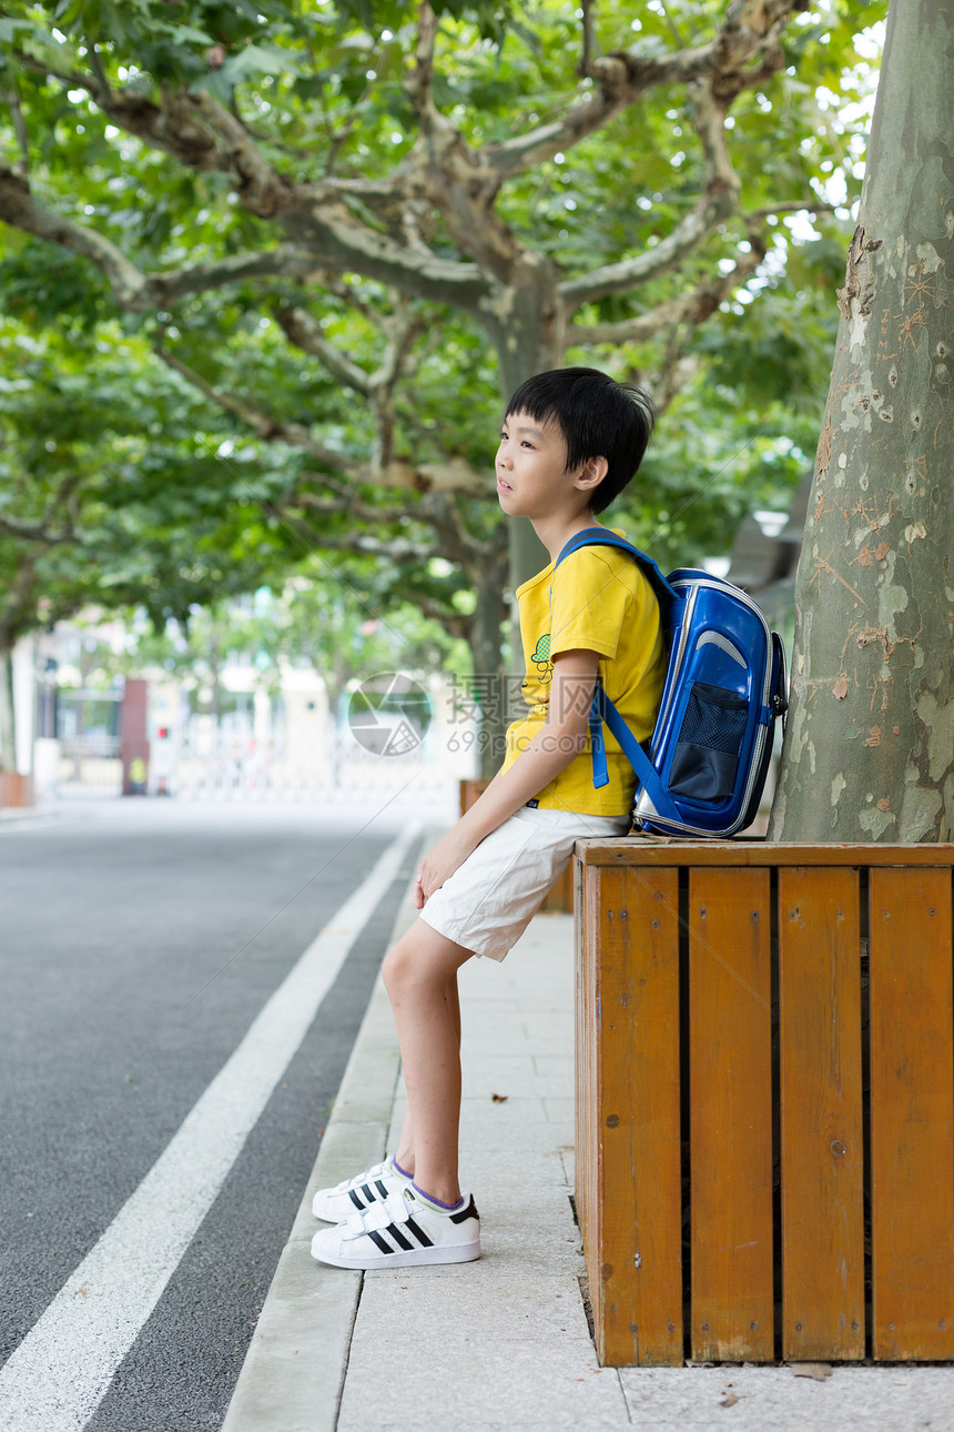
[[[126,800],[0,826],[4,1360],[405,823]],[[415,853],[368,909],[89,1432],[219,1428]]]

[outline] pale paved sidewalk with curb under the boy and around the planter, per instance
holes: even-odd
[[[409,901],[396,929],[413,918]],[[310,1257],[315,1189],[393,1148],[399,1057],[376,985],[223,1432],[950,1432],[954,1368],[599,1368],[571,1193],[574,922],[538,915],[502,967],[471,961],[462,1180],[478,1263],[349,1273]],[[390,1134],[392,1127],[395,1134]]]

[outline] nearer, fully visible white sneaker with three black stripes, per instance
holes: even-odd
[[[312,1257],[332,1267],[471,1263],[481,1256],[481,1216],[469,1193],[446,1213],[405,1187],[312,1239]]]

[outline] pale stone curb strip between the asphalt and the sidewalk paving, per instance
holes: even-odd
[[[388,948],[416,919],[412,894],[409,885]],[[310,1252],[319,1226],[312,1197],[385,1157],[399,1074],[398,1034],[378,975],[222,1432],[335,1429],[363,1274],[328,1269],[330,1276],[320,1276]]]

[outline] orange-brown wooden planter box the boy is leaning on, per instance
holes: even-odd
[[[599,1358],[954,1359],[954,845],[576,846]]]

